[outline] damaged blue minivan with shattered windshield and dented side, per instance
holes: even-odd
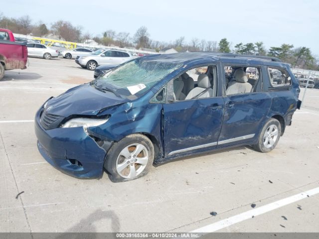
[[[300,108],[299,92],[278,58],[150,55],[48,99],[35,116],[37,146],[64,173],[99,178],[105,169],[113,182],[213,150],[269,152]]]

